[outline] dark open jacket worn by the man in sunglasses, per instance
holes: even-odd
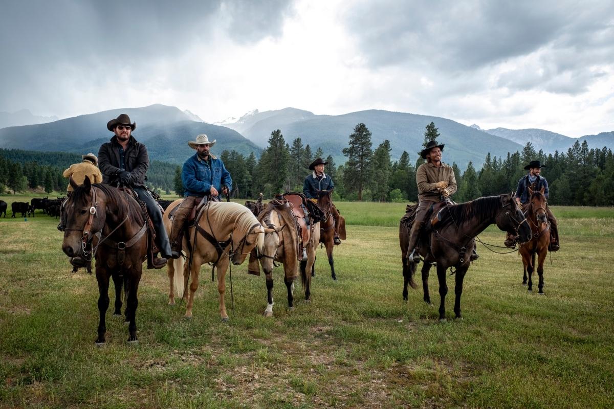
[[[120,144],[117,143],[117,137],[114,136],[109,142],[103,143],[98,151],[98,167],[103,172],[103,183],[117,186],[119,184],[119,158]],[[128,170],[133,175],[133,186],[146,186],[147,168],[149,168],[149,155],[147,148],[141,142],[130,136],[128,140],[128,148],[124,153],[125,170]]]

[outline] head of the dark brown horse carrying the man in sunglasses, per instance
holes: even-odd
[[[91,186],[90,178],[85,177],[84,184],[69,179],[72,194],[64,202],[61,221],[64,225],[62,250],[69,257],[75,257],[85,250],[94,234],[104,227],[104,207],[102,197],[96,196],[96,189]]]

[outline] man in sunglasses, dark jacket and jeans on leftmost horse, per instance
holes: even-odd
[[[103,143],[98,151],[98,163],[103,172],[103,182],[107,185],[131,188],[144,202],[147,213],[153,222],[156,235],[156,245],[162,258],[153,258],[153,267],[161,269],[166,266],[166,259],[171,258],[171,245],[162,224],[160,206],[149,194],[145,186],[149,155],[147,148],[132,136],[136,122],[130,123],[130,117],[125,113],[107,123],[107,129],[114,132],[109,142]]]

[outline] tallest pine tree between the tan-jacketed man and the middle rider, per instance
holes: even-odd
[[[365,124],[359,123],[349,136],[349,147],[343,148],[343,155],[348,157],[344,169],[344,186],[349,191],[357,191],[359,201],[362,201],[362,191],[370,180],[373,157],[371,145],[371,132]]]

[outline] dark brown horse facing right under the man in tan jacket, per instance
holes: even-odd
[[[454,314],[461,318],[461,294],[465,273],[470,267],[469,256],[475,245],[475,236],[480,234],[491,224],[499,229],[518,235],[521,242],[528,242],[531,238],[531,229],[523,212],[514,200],[513,193],[499,196],[480,197],[475,201],[447,205],[441,210],[443,218],[438,221],[430,231],[422,233],[423,239],[419,244],[420,255],[424,258],[422,266],[422,288],[424,300],[430,304],[429,270],[431,262],[437,263],[437,278],[439,280],[439,319],[445,321],[445,297],[448,294],[446,284],[446,270],[456,268],[456,285],[454,293]],[[429,223],[427,223],[429,224]],[[407,285],[416,288],[414,273],[416,263],[406,259],[407,247],[410,237],[410,226],[403,222],[399,226],[399,241],[403,259],[403,299],[407,299]]]

